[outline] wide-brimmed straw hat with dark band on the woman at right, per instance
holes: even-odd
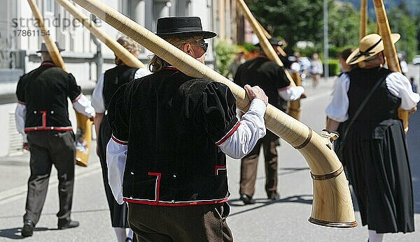
[[[399,33],[391,33],[392,43],[397,42],[400,37]],[[377,33],[368,34],[360,40],[359,47],[350,54],[349,58],[346,59],[346,63],[353,65],[365,61],[383,50],[384,42],[381,36]]]

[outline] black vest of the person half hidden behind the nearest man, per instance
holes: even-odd
[[[116,66],[106,70],[104,74],[104,89],[102,90],[104,96],[105,109],[108,109],[109,101],[120,86],[134,80],[134,75],[139,68],[132,68],[129,66]]]

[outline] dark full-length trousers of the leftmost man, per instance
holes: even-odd
[[[30,219],[35,224],[38,222],[47,195],[51,167],[54,164],[59,181],[57,217],[60,224],[69,222],[76,164],[73,131],[29,132],[28,144],[31,152],[31,176],[28,181],[26,213],[23,219]]]

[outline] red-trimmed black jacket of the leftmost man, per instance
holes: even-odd
[[[16,95],[19,102],[27,107],[25,132],[72,130],[67,97],[75,102],[80,94],[80,86],[73,75],[50,62],[44,62],[23,75]]]

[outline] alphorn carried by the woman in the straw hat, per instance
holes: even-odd
[[[377,24],[379,26],[379,33],[382,41],[384,42],[384,52],[386,56],[386,63],[388,64],[389,70],[393,72],[401,73],[400,61],[398,60],[397,50],[391,40],[391,28],[389,27],[388,17],[386,16],[386,10],[384,1],[373,0],[374,11],[377,15]],[[402,120],[404,125],[405,133],[408,132],[408,119],[409,111],[398,109],[398,116]]]

